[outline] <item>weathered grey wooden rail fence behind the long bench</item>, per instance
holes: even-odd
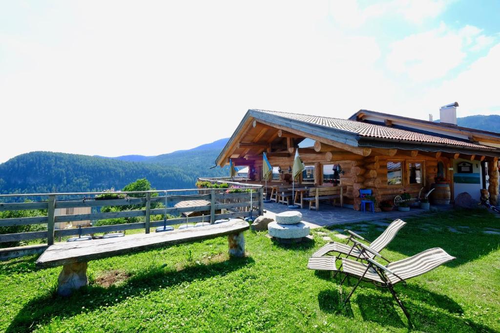
[[[19,210],[32,210],[32,209],[46,209],[46,216],[38,217],[22,217],[22,218],[9,218],[0,219],[0,227],[20,226],[20,225],[33,225],[33,224],[46,224],[47,229],[44,231],[24,232],[15,234],[2,234],[0,235],[0,243],[26,241],[33,239],[47,239],[47,246],[54,243],[54,238],[64,236],[74,236],[81,234],[95,234],[106,233],[121,230],[131,229],[144,229],[145,233],[149,233],[152,227],[163,226],[163,221],[151,221],[151,215],[173,215],[180,216],[185,212],[210,212],[210,223],[213,224],[218,219],[240,217],[244,218],[250,216],[262,215],[262,187],[238,184],[241,188],[239,193],[228,193],[231,189],[186,189],[186,190],[163,190],[163,191],[140,191],[140,192],[84,192],[84,193],[45,193],[45,194],[7,194],[0,195],[2,198],[10,197],[35,197],[40,198],[38,202],[24,202],[24,203],[1,203],[0,211],[19,211]],[[249,190],[251,189],[251,191]],[[141,196],[140,198],[125,197],[124,199],[107,199],[97,200],[96,195],[99,194],[125,194]],[[158,193],[158,196],[151,196],[152,193]],[[184,193],[184,194],[183,194]],[[185,194],[196,193],[196,194]],[[138,195],[137,195],[138,194]],[[162,195],[161,195],[162,194]],[[79,196],[84,198],[57,200],[58,197],[71,197]],[[41,201],[41,198],[48,198],[47,201]],[[191,200],[206,200],[210,203],[203,206],[190,206],[190,207],[168,207],[174,202],[191,201]],[[165,208],[151,209],[151,204],[162,203]],[[119,212],[95,212],[89,214],[73,214],[55,216],[54,210],[56,208],[76,208],[76,207],[104,207],[104,206],[126,206],[126,205],[140,205],[143,209],[139,210],[126,210]],[[220,214],[215,214],[216,211],[221,211]],[[222,213],[222,211],[225,211]],[[102,220],[113,218],[130,218],[130,217],[144,217],[144,222],[126,223],[117,225],[106,226],[92,226],[78,228],[60,229],[54,228],[57,222],[71,222],[71,221],[84,221],[84,220]],[[180,217],[166,220],[167,225],[174,225],[180,223],[195,223],[205,222],[208,215],[195,216],[195,217]],[[206,221],[207,222],[207,221]],[[5,250],[5,249],[2,249]],[[1,257],[1,256],[0,256]]]

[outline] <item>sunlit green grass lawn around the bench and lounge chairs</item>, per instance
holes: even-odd
[[[482,233],[500,228],[500,219],[460,211],[406,222],[382,255],[397,260],[441,247],[457,258],[396,285],[411,330],[500,331],[500,235]],[[367,239],[380,234],[375,228]],[[229,260],[226,239],[217,238],[93,261],[90,285],[67,299],[54,296],[60,268],[36,270],[36,257],[0,262],[0,331],[407,332],[388,292],[362,283],[343,308],[338,280],[306,269],[325,243],[317,231],[334,233],[314,230],[314,241],[282,246],[247,231],[243,259]]]

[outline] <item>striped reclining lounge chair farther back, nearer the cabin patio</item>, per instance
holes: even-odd
[[[399,229],[401,229],[405,224],[406,222],[399,219],[392,221],[387,229],[385,229],[384,232],[371,243],[361,236],[357,235],[356,233],[350,230],[345,230],[345,232],[349,234],[349,238],[347,239],[347,242],[345,244],[338,242],[329,242],[325,244],[322,248],[312,254],[309,263],[311,263],[311,261],[321,261],[317,258],[323,257],[324,255],[329,255],[329,253],[331,252],[338,253],[338,257],[344,254],[346,257],[350,256],[356,259],[373,258],[373,255],[370,252],[364,250],[365,246],[362,243],[358,242],[356,239],[367,242],[369,244],[369,248],[378,253],[382,251],[382,249],[385,248],[385,246],[387,246],[390,241],[392,241]],[[384,259],[386,262],[389,262],[383,257],[382,259]]]

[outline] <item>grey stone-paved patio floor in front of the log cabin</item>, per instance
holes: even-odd
[[[439,207],[439,210],[447,210],[451,209],[451,207]],[[264,203],[264,210],[266,213],[265,217],[274,218],[274,215],[277,213],[281,213],[284,211],[289,211],[286,205],[276,204],[274,202]],[[319,211],[316,212],[314,210],[305,209],[297,209],[300,213],[302,213],[302,219],[305,222],[310,224],[310,228],[319,228],[332,226],[336,224],[351,224],[351,223],[359,223],[359,222],[372,222],[379,220],[395,220],[400,219],[406,216],[413,216],[418,214],[428,213],[427,211],[412,208],[409,212],[379,212],[379,213],[370,213],[370,212],[358,212],[353,210],[352,208],[341,208],[341,207],[333,207],[328,204],[321,205],[319,207]],[[375,223],[379,226],[383,227],[381,223]]]

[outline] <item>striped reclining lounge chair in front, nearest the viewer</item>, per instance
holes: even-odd
[[[336,258],[330,257],[325,259],[334,261]],[[371,258],[368,258],[366,260],[367,264],[347,258],[341,258],[340,260],[342,261],[343,273],[345,274],[345,277],[340,282],[340,290],[342,288],[342,283],[347,276],[359,278],[356,285],[354,286],[354,288],[352,288],[351,292],[345,299],[344,304],[349,301],[352,293],[354,293],[354,290],[356,290],[361,280],[371,282],[378,287],[388,289],[388,291],[394,297],[394,300],[404,312],[404,315],[408,319],[408,324],[411,325],[409,314],[404,305],[397,297],[393,285],[398,282],[406,283],[405,280],[432,271],[434,268],[453,259],[455,259],[455,257],[448,255],[441,248],[425,250],[412,257],[389,263],[386,266],[379,264]],[[335,264],[333,263],[333,265]]]

